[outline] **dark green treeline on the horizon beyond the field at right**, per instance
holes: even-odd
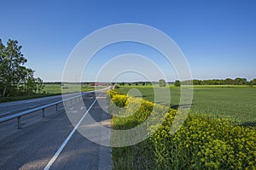
[[[191,81],[183,81],[181,84],[191,84]],[[226,78],[226,79],[212,79],[212,80],[193,80],[193,85],[256,85],[256,78],[252,81],[247,81],[246,78]]]

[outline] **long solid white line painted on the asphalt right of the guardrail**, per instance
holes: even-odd
[[[77,130],[77,128],[79,127],[79,125],[81,124],[81,122],[84,120],[84,117],[87,115],[87,113],[90,111],[90,109],[92,108],[92,106],[96,103],[95,99],[92,104],[90,105],[89,109],[84,113],[84,116],[82,116],[82,118],[80,119],[80,121],[78,122],[78,124],[73,128],[73,131],[71,133],[69,133],[69,135],[67,136],[67,139],[65,139],[65,141],[63,142],[63,144],[61,144],[61,147],[59,148],[59,150],[56,151],[55,155],[50,159],[50,161],[48,162],[47,166],[44,167],[44,170],[49,170],[49,167],[52,166],[52,164],[55,162],[55,160],[57,159],[57,157],[61,154],[61,151],[65,148],[65,146],[67,145],[68,141],[71,139],[71,137],[73,136],[73,133],[75,133],[75,131]]]

